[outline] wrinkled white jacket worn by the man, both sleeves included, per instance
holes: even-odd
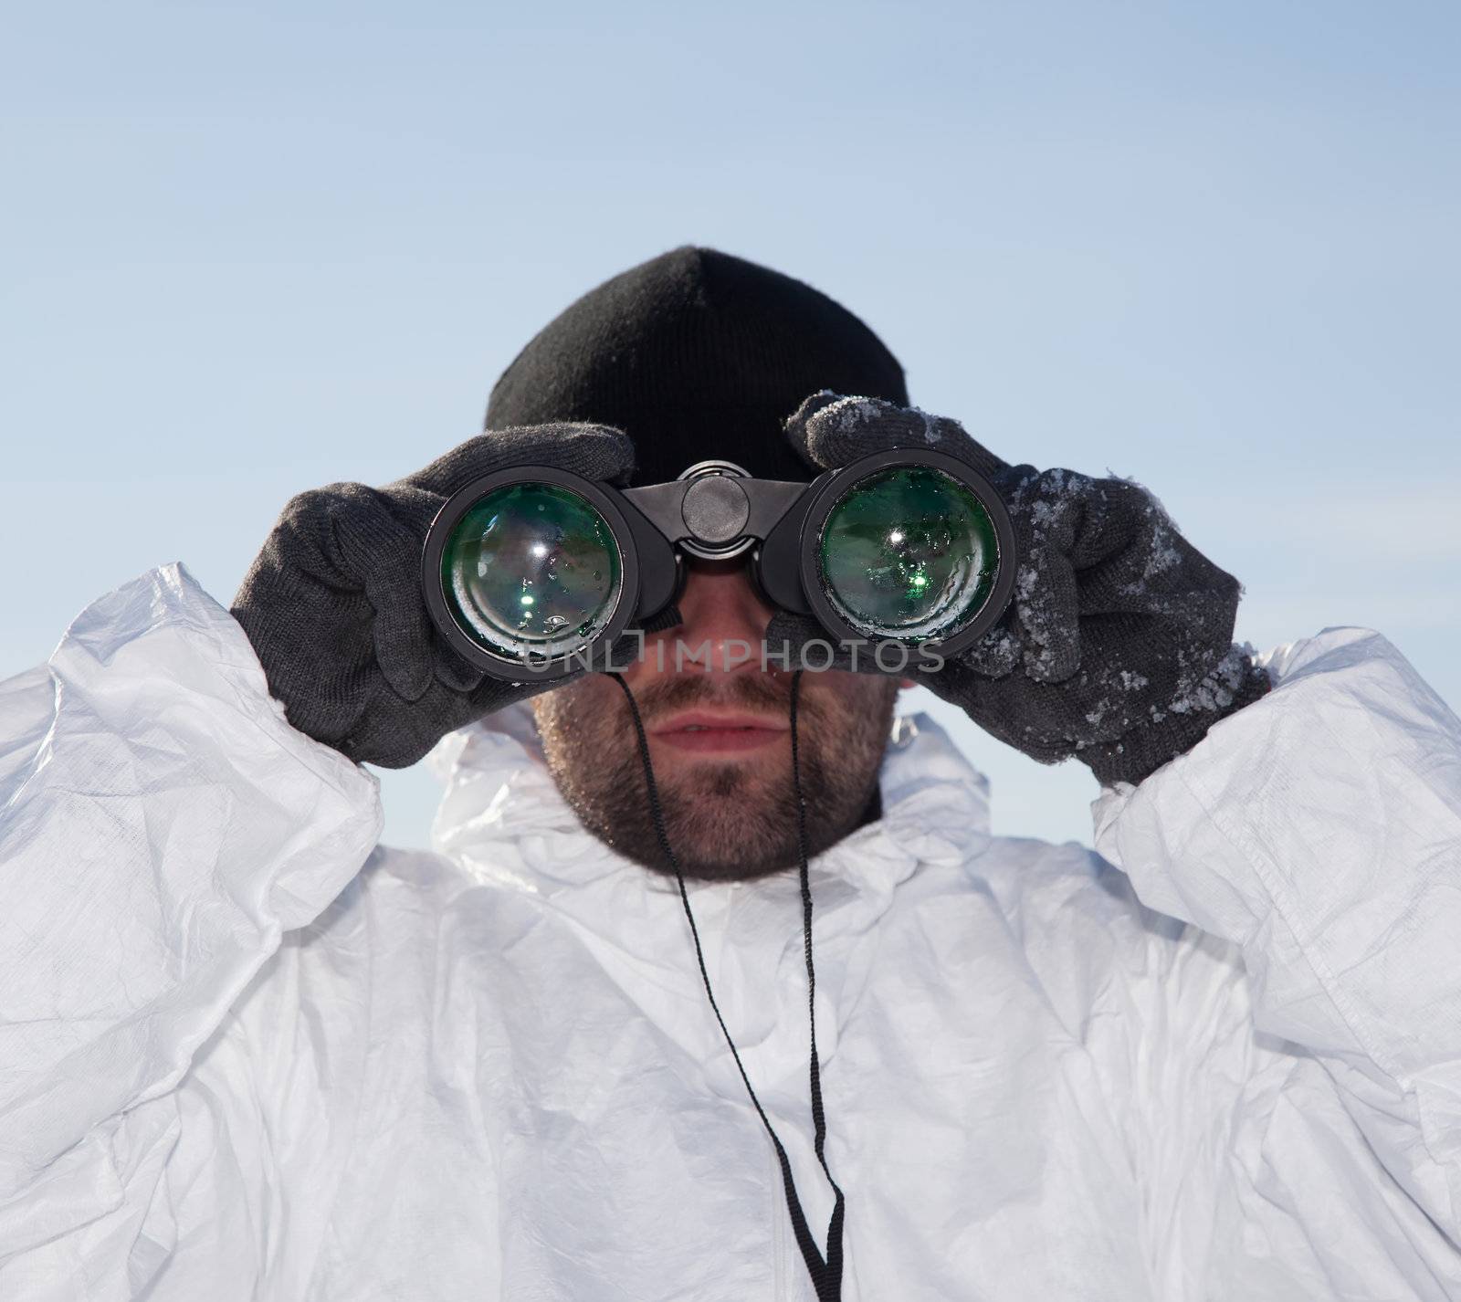
[[[814,862],[847,1302],[1461,1296],[1461,725],[1372,633],[1268,666],[1100,855],[918,720]],[[434,763],[374,848],[180,567],[0,685],[0,1298],[811,1296],[674,884],[520,712]],[[821,1238],[795,874],[691,900]]]

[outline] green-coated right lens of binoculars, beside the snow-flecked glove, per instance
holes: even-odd
[[[823,525],[818,571],[833,608],[868,637],[953,637],[993,587],[999,544],[983,503],[931,466],[859,479]]]

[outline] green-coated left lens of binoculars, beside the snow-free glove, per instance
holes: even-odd
[[[577,650],[619,604],[622,566],[608,522],[554,484],[495,488],[456,523],[441,590],[478,643],[511,659]]]

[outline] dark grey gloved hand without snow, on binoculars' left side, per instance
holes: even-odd
[[[469,438],[384,488],[330,484],[289,500],[232,612],[295,728],[403,769],[447,732],[568,681],[487,677],[446,644],[422,599],[421,549],[441,504],[520,463],[622,482],[634,450],[603,425],[530,425]]]

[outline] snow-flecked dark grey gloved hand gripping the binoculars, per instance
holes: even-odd
[[[995,485],[1020,549],[1014,599],[980,642],[918,681],[1042,764],[1075,755],[1105,785],[1141,782],[1268,690],[1233,644],[1237,580],[1138,484],[1010,466],[957,421],[881,399],[812,395],[786,433],[821,469],[925,447]],[[767,630],[773,647],[824,636],[785,612]],[[855,668],[878,672],[866,655]]]

